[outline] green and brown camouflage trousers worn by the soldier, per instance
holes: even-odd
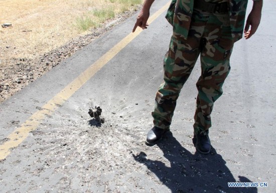
[[[170,128],[180,91],[200,56],[194,133],[211,127],[214,102],[222,95],[222,85],[230,71],[233,44],[228,14],[194,10],[188,38],[181,40],[173,34],[165,55],[164,83],[156,94],[152,112],[155,126]]]

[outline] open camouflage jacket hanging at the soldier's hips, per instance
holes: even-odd
[[[196,0],[195,0],[196,1]],[[248,0],[228,0],[230,27],[234,42],[242,38]],[[166,19],[173,26],[174,34],[187,39],[194,0],[172,0]]]

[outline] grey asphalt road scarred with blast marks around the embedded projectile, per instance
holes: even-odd
[[[0,192],[275,192],[275,5],[266,0],[256,34],[234,46],[209,155],[192,144],[199,62],[172,132],[145,145],[172,27],[161,11],[132,34],[136,14],[0,104]],[[102,124],[87,113],[95,105]],[[236,181],[267,187],[228,187]]]

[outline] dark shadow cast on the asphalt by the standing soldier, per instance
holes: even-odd
[[[228,187],[227,182],[236,182],[231,171],[225,165],[222,156],[214,148],[208,155],[192,154],[181,146],[171,132],[166,133],[158,144],[164,157],[171,166],[159,160],[147,159],[147,154],[140,152],[133,155],[134,159],[145,164],[160,181],[168,186],[173,193],[180,192],[219,192],[219,193],[256,193],[256,187]],[[238,182],[251,182],[239,176]]]

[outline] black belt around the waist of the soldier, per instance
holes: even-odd
[[[228,3],[208,3],[204,0],[195,0],[194,8],[210,13],[226,13],[228,12]]]

